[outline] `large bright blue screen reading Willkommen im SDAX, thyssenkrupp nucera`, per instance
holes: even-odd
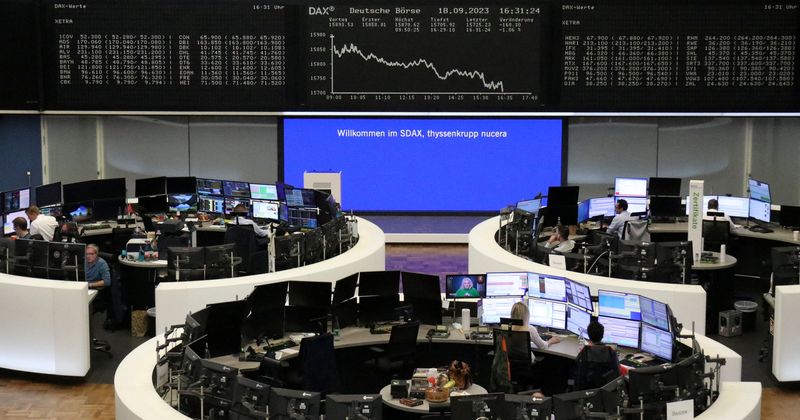
[[[561,120],[287,118],[284,181],[341,171],[342,207],[497,211],[561,185]]]

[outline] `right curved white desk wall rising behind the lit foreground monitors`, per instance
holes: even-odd
[[[568,277],[581,282],[597,295],[598,289],[642,294],[669,304],[675,317],[685,328],[705,333],[706,292],[701,286],[687,284],[648,283],[577,273],[537,264],[503,249],[494,239],[500,216],[486,220],[469,232],[469,272],[532,271]]]

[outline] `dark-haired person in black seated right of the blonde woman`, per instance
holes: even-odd
[[[575,359],[575,391],[599,388],[619,376],[619,360],[617,351],[602,344],[605,328],[597,321],[589,322],[586,327],[589,343],[585,345]]]

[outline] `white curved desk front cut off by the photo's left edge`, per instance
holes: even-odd
[[[89,302],[85,281],[0,274],[0,368],[86,376]]]

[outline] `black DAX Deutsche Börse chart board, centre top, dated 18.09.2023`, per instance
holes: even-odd
[[[544,103],[543,6],[336,5],[307,14],[310,107]]]

